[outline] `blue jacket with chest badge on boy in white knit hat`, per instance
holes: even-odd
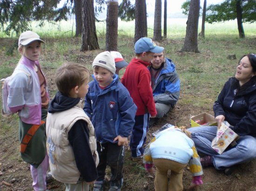
[[[128,90],[119,82],[116,74],[105,89],[99,87],[94,76],[93,79],[89,83],[83,109],[94,125],[97,141],[113,143],[118,135],[128,137],[137,111]]]

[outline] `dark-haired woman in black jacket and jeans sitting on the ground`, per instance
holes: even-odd
[[[225,83],[213,105],[218,127],[228,121],[231,129],[239,135],[236,146],[228,147],[218,154],[211,141],[218,127],[189,128],[203,167],[214,166],[217,170],[232,172],[232,166],[256,158],[256,55],[244,55],[236,68],[235,77]]]

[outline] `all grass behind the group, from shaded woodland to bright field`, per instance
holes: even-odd
[[[148,19],[148,37],[153,37],[153,19]],[[244,24],[246,38],[238,38],[236,21],[225,23],[206,24],[205,38],[198,37],[198,47],[200,54],[180,52],[185,34],[187,19],[168,19],[167,39],[162,40],[162,46],[165,47],[165,54],[176,64],[177,71],[181,78],[182,96],[180,103],[193,104],[202,107],[205,102],[212,101],[218,95],[224,82],[230,76],[233,76],[239,57],[249,52],[256,52],[255,38],[256,25]],[[201,27],[201,23],[199,24]],[[198,31],[201,31],[199,27]],[[84,57],[81,48],[81,37],[74,38],[75,25],[73,21],[62,21],[59,25],[46,24],[38,28],[36,23],[33,24],[33,31],[38,32],[42,39],[46,41],[43,46],[43,55],[41,64],[47,67],[57,68],[64,61],[81,61]],[[73,30],[73,32],[72,32]],[[105,33],[106,23],[96,24],[98,42],[101,51],[105,50]],[[118,50],[121,52],[127,62],[134,57],[133,38],[134,38],[134,21],[121,22],[118,28]],[[0,39],[8,40],[8,37],[1,32]],[[17,37],[9,39],[10,42],[16,43]],[[0,65],[0,78],[10,75],[15,64],[18,62],[20,55],[14,50],[14,56],[8,57],[7,50],[13,45],[1,46],[2,61]],[[82,59],[82,64],[87,64],[91,69],[91,62],[97,52],[88,52],[90,58]],[[229,54],[236,54],[236,60],[229,60]],[[121,70],[121,75],[124,70]],[[189,95],[202,94],[201,98],[195,101],[196,97]]]

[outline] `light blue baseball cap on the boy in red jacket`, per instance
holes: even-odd
[[[148,51],[161,53],[163,50],[164,47],[155,45],[154,41],[147,37],[140,38],[134,45],[134,51],[137,54]]]

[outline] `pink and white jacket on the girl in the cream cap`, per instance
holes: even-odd
[[[9,82],[10,90],[7,105],[13,113],[18,112],[23,122],[40,125],[41,91],[38,75],[36,71],[34,71],[35,65],[37,65],[38,69],[41,71],[39,61],[32,61],[24,56],[21,57],[16,70],[13,71],[12,79]],[[27,74],[22,70],[28,71],[30,80],[28,80]],[[43,74],[42,71],[41,73]],[[46,91],[49,99],[48,90],[46,89]]]

